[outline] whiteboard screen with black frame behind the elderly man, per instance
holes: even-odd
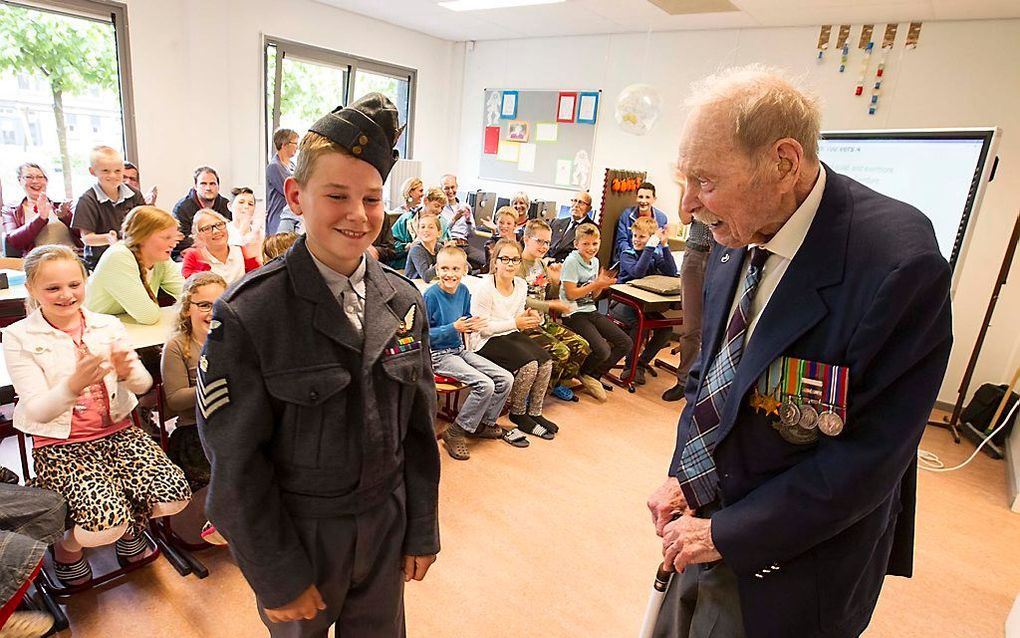
[[[927,215],[955,284],[1001,135],[998,128],[831,131],[822,133],[818,155],[836,173]]]

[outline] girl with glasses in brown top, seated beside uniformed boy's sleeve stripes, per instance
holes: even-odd
[[[214,272],[196,273],[188,278],[181,293],[173,333],[163,346],[163,357],[159,363],[166,407],[170,415],[177,419],[170,433],[166,455],[184,470],[188,485],[195,494],[209,484],[209,459],[202,449],[195,425],[198,360],[212,325],[212,304],[223,294],[226,286],[226,281]],[[202,537],[222,544],[219,542],[222,537],[209,524],[203,529]]]

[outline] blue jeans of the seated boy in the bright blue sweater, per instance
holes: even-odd
[[[480,424],[495,424],[513,387],[513,375],[464,348],[434,351],[432,372],[468,387],[456,421],[467,432],[477,431]]]

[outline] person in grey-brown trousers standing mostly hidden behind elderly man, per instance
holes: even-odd
[[[662,393],[663,401],[679,401],[687,385],[691,365],[701,352],[702,295],[705,290],[705,266],[708,253],[715,247],[712,231],[695,219],[680,206],[680,224],[691,225],[680,264],[680,289],[683,300],[683,328],[680,334],[680,364],[676,366],[676,384]]]

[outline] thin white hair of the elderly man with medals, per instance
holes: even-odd
[[[764,64],[734,66],[692,85],[692,107],[720,107],[733,122],[733,139],[749,157],[776,140],[793,138],[804,147],[805,159],[818,159],[821,109],[818,98]]]

